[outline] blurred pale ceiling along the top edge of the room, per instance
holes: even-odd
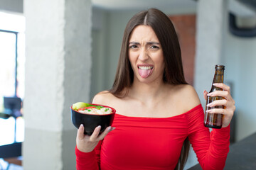
[[[256,0],[229,0],[228,8],[236,16],[255,18],[255,8],[250,8],[252,5],[245,4],[245,1]],[[111,11],[144,10],[152,7],[170,11],[196,8],[196,4],[197,0],[92,0],[92,6]]]

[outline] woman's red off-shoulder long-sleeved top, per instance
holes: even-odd
[[[90,153],[77,148],[77,169],[174,169],[183,140],[188,137],[203,169],[223,169],[228,154],[229,130],[203,126],[203,108],[196,106],[170,118],[115,115],[116,129]]]

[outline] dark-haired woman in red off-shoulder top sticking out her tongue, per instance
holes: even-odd
[[[113,127],[100,135],[97,127],[88,136],[80,126],[75,148],[77,169],[183,169],[188,140],[203,169],[223,169],[235,102],[228,86],[216,86],[225,91],[210,95],[225,100],[212,104],[225,109],[211,113],[223,113],[223,128],[209,132],[203,126],[198,95],[184,79],[171,21],[154,8],[137,13],[124,30],[112,89],[92,101],[117,110]]]

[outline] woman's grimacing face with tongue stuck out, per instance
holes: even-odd
[[[134,80],[149,82],[164,74],[164,55],[161,44],[150,26],[137,26],[129,39],[129,61]]]

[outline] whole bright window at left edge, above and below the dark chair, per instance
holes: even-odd
[[[25,18],[0,11],[0,113],[4,96],[24,98],[25,80]],[[15,128],[16,127],[16,128]],[[22,142],[24,121],[19,117],[0,118],[0,145]]]

